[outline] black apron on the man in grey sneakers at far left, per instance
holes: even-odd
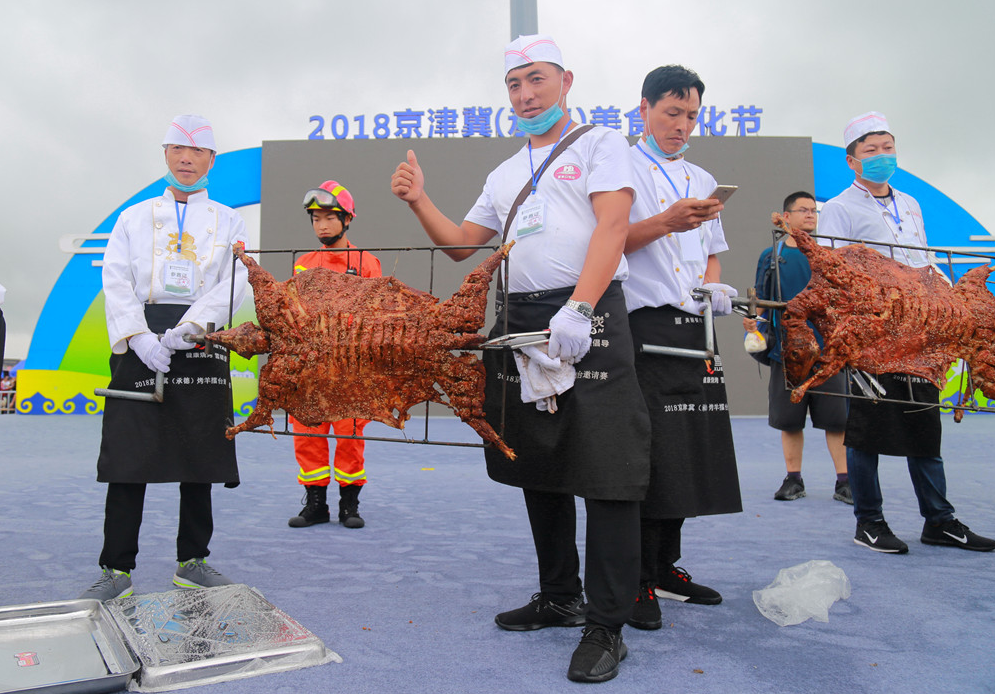
[[[148,304],[149,330],[164,333],[189,306]],[[151,393],[155,373],[132,350],[111,355],[113,390]],[[169,362],[163,402],[106,398],[98,482],[219,482],[238,485],[228,350],[180,350]]]

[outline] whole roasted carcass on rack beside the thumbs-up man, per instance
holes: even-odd
[[[370,419],[398,429],[420,402],[446,405],[507,457],[514,452],[484,419],[484,336],[487,291],[510,244],[489,256],[442,303],[394,277],[357,277],[313,268],[286,282],[245,255],[259,325],[243,323],[207,339],[251,357],[269,353],[259,397],[237,433],[273,424],[283,408],[308,426]]]

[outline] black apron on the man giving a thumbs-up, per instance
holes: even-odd
[[[543,330],[572,287],[509,297],[508,332]],[[587,499],[637,501],[649,482],[649,416],[632,368],[632,341],[621,282],[612,282],[594,308],[591,351],[575,365],[574,387],[556,396],[556,414],[523,403],[514,357],[486,350],[487,421],[518,455],[485,449],[487,474],[523,489]],[[503,335],[499,310],[491,337]],[[502,386],[507,387],[502,408]]]

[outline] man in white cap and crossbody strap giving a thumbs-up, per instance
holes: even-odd
[[[438,245],[482,245],[501,229],[516,241],[492,337],[504,332],[506,317],[512,333],[548,328],[545,351],[523,351],[548,374],[574,381],[558,390],[555,405],[545,398],[525,402],[522,372],[512,366],[517,358],[495,350],[484,355],[487,420],[500,428],[503,411],[502,436],[518,455],[511,461],[486,449],[487,472],[523,490],[539,564],[539,592],[495,622],[509,631],[584,625],[567,678],[604,682],[618,674],[628,652],[622,626],[639,586],[639,500],[649,475],[649,421],[621,287],[632,166],[621,133],[582,129],[570,119],[566,97],[574,77],[552,38],[521,36],[504,55],[508,97],[528,137],[488,175],[463,223],[432,203],[410,150],[391,190]],[[462,260],[474,249],[445,252]],[[577,496],[587,508],[583,584]]]

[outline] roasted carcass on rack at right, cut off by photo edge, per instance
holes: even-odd
[[[812,279],[784,312],[782,355],[793,402],[847,365],[922,376],[942,387],[956,359],[971,367],[975,387],[995,398],[990,267],[969,270],[951,287],[928,267],[903,265],[863,244],[830,250],[789,229],[780,215],[773,218],[812,267]],[[807,320],[823,336],[821,353]]]

